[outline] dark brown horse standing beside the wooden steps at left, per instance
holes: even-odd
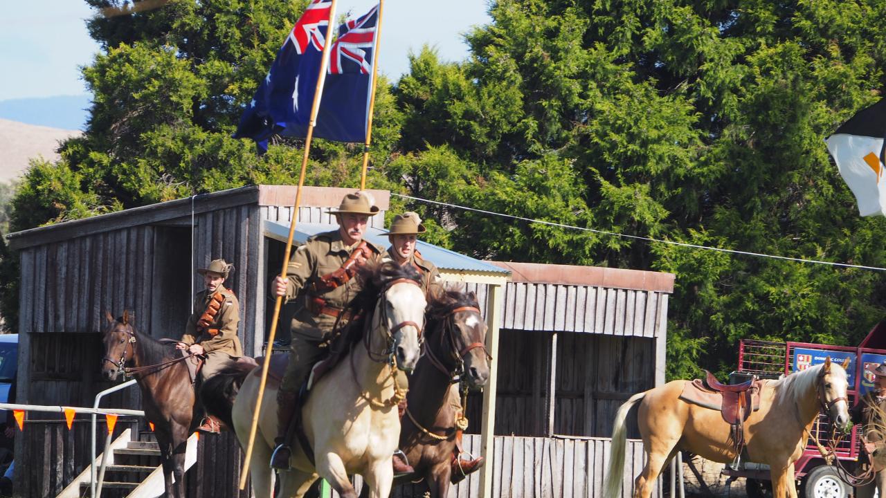
[[[172,344],[161,344],[139,334],[128,312],[114,319],[109,313],[105,329],[105,358],[102,373],[116,380],[120,373],[133,373],[142,391],[144,416],[154,424],[160,447],[160,462],[168,498],[184,498],[184,453],[193,432],[194,389],[188,367]],[[132,367],[127,367],[131,363]],[[173,477],[175,476],[175,483]]]

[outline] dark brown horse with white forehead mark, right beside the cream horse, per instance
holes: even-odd
[[[394,484],[424,478],[432,498],[445,498],[455,449],[453,401],[458,398],[458,389],[453,379],[459,377],[464,389],[486,385],[490,357],[484,346],[486,323],[473,292],[432,296],[426,316],[425,354],[409,378],[412,389],[400,418],[400,449],[416,472],[395,479]]]

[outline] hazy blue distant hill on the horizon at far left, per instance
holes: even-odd
[[[89,117],[89,95],[0,100],[0,119],[61,129],[83,129]]]

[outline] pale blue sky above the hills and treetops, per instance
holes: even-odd
[[[359,16],[376,1],[339,0],[338,13]],[[487,9],[485,0],[385,0],[381,72],[392,79],[407,72],[408,52],[424,43],[444,60],[462,60],[462,34],[488,22]],[[81,0],[0,2],[0,101],[86,93],[78,67],[98,51],[85,26],[92,14]]]

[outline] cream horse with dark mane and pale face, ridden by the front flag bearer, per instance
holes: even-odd
[[[396,369],[413,370],[416,366],[426,303],[414,268],[383,263],[361,268],[359,277],[363,290],[352,305],[358,318],[343,331],[353,334],[346,337],[354,340],[338,365],[313,385],[301,412],[314,463],[304,448],[295,451],[292,470],[280,472],[276,496],[303,496],[318,474],[342,497],[357,496],[349,473],[361,474],[373,497],[386,497],[391,491],[391,457],[400,435]],[[246,376],[231,411],[243,446],[252,425],[258,371]],[[253,490],[261,497],[270,496],[274,486],[268,461],[277,433],[278,386],[275,379],[268,378],[249,463]]]

